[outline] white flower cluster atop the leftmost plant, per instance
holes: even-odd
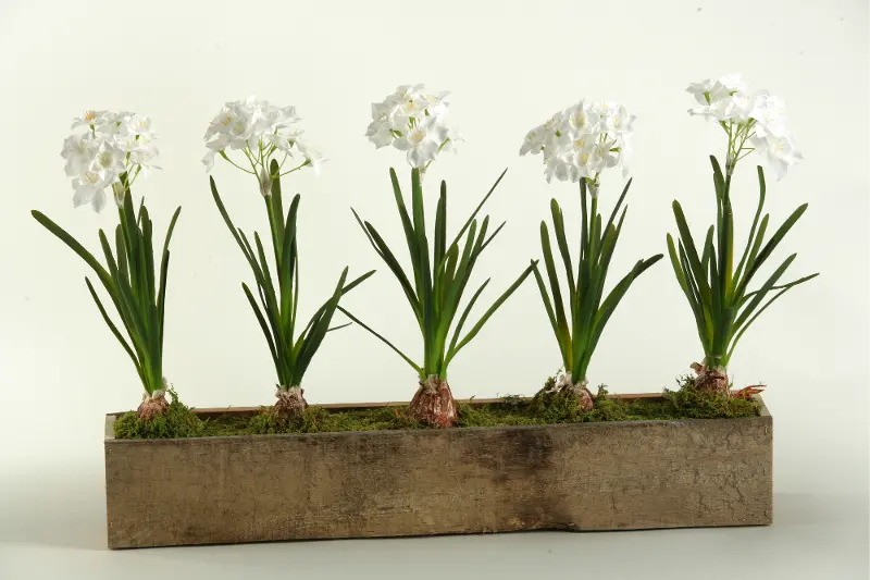
[[[73,205],[90,203],[95,211],[105,207],[105,189],[112,187],[115,202],[124,200],[121,176],[129,186],[140,171],[156,168],[157,147],[151,120],[130,112],[85,111],[72,128],[85,127],[63,141],[61,157],[66,175],[73,177]]]

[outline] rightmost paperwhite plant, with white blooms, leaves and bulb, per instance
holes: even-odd
[[[769,235],[770,214],[761,217],[767,186],[760,165],[757,168],[758,207],[746,246],[734,266],[731,177],[737,163],[753,152],[763,155],[776,178],[781,180],[790,165],[803,159],[785,125],[782,100],[767,91],[750,91],[734,75],[694,83],[687,91],[699,103],[689,113],[714,122],[728,136],[725,171],[723,173],[717,158],[710,156],[716,222],[707,230],[703,245],[695,244],[683,208],[679,201],[673,201],[679,239],[674,244],[674,238],[668,234],[668,254],[680,287],[692,308],[704,348],[703,362],[692,365],[696,372],[694,386],[700,391],[728,394],[728,366],[744,333],[780,296],[819,274],[780,283],[797,257],[797,254],[792,254],[756,289],[750,288],[750,283],[760,275],[761,268],[773,250],[807,210],[807,203],[803,203]]]

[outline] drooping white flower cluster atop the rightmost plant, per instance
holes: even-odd
[[[779,180],[790,165],[804,159],[785,126],[785,107],[781,99],[765,90],[751,92],[736,75],[707,78],[693,83],[686,90],[700,103],[689,109],[689,114],[713,119],[729,134],[726,166],[730,172],[751,151],[767,157]]]

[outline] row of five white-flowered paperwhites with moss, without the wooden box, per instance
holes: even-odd
[[[818,274],[780,283],[795,259],[792,255],[766,282],[750,289],[749,283],[807,206],[800,206],[772,236],[766,238],[769,215],[761,217],[766,188],[763,171],[759,166],[759,203],[748,242],[735,267],[731,177],[738,161],[753,151],[763,153],[779,177],[788,165],[800,159],[800,155],[785,127],[785,114],[778,98],[763,91],[749,92],[741,81],[733,78],[693,84],[688,91],[700,104],[691,113],[720,125],[728,135],[728,152],[724,172],[711,157],[717,217],[700,251],[678,201],[673,202],[673,210],[679,239],[675,242],[670,234],[667,237],[668,254],[679,285],[688,299],[704,348],[703,362],[693,365],[696,377],[687,380],[687,386],[693,393],[709,393],[718,397],[717,400],[723,405],[717,407],[713,415],[704,417],[753,414],[756,407],[751,403],[739,408],[733,406],[746,403],[737,402],[739,397],[732,397],[730,392],[728,363],[734,347],[770,304]],[[241,287],[265,337],[276,372],[275,404],[262,408],[259,419],[235,424],[235,431],[231,429],[229,433],[539,424],[612,420],[637,416],[638,412],[642,418],[650,418],[636,406],[613,412],[612,400],[606,391],[600,388],[598,394],[594,394],[588,388],[587,377],[593,354],[616,308],[636,279],[662,258],[662,254],[658,254],[638,260],[607,289],[607,274],[625,224],[624,200],[632,181],[625,183],[606,220],[599,208],[599,194],[606,190],[602,183],[608,170],[621,170],[623,177],[627,177],[634,116],[618,103],[581,100],[525,135],[520,155],[540,155],[548,183],[555,178],[576,184],[580,211],[573,213],[579,217],[580,239],[569,239],[564,212],[554,198],[550,201],[554,237],[546,221],[540,223],[544,272],[538,260],[532,259],[531,264],[472,323],[472,311],[489,280],[483,281],[473,293],[469,292],[471,297],[463,303],[469,295],[467,289],[470,291],[467,286],[477,259],[505,226],[501,223],[490,227],[489,217],[478,219],[478,214],[507,170],[456,234],[448,232],[447,184],[442,181],[430,233],[426,227],[425,176],[432,163],[443,153],[455,150],[461,140],[448,122],[446,96],[446,92],[432,92],[423,85],[402,85],[382,102],[372,104],[372,121],[365,132],[378,149],[393,146],[405,152],[410,165],[409,202],[396,171],[389,171],[410,269],[402,266],[400,255],[390,249],[377,229],[352,210],[375,252],[398,281],[420,328],[423,353],[422,359],[417,360],[370,328],[363,321],[364,316],[358,316],[339,304],[374,271],[349,280],[349,269],[345,268],[332,295],[308,322],[302,323],[297,318],[300,286],[297,221],[301,197],[299,194],[294,196],[285,210],[282,177],[306,169],[319,172],[323,157],[301,137],[295,108],[249,98],[227,102],[209,124],[206,133],[208,153],[203,158],[207,169],[212,171],[215,158],[220,157],[250,174],[257,181],[269,223],[266,236],[259,232],[249,236],[237,227],[219,195],[214,177],[210,177],[219,213],[251,269],[256,289],[252,291],[248,283],[243,283]],[[49,218],[38,211],[33,213],[96,272],[121,320],[120,325],[113,321],[104,301],[86,277],[101,317],[134,361],[145,390],[138,410],[115,422],[115,434],[121,437],[226,434],[226,425],[220,425],[215,432],[209,431],[208,421],[200,421],[195,412],[177,403],[174,391],[170,391],[174,397],[172,404],[165,398],[170,387],[163,378],[162,345],[169,243],[181,208],[170,221],[163,251],[156,263],[154,234],[148,210],[144,200],[136,209],[130,190],[140,174],[156,166],[157,149],[151,122],[134,113],[88,111],[74,122],[73,127],[82,131],[64,141],[62,156],[67,175],[74,177],[74,205],[90,203],[100,211],[111,195],[119,208],[120,224],[115,229],[114,247],[107,235],[99,232],[105,266]],[[554,240],[560,267],[554,257]],[[530,274],[537,283],[544,312],[556,336],[562,371],[548,380],[534,399],[525,403],[512,399],[511,412],[498,415],[501,412],[498,411],[484,418],[480,416],[481,406],[463,406],[453,399],[447,382],[448,367]],[[339,311],[350,322],[333,324]],[[377,420],[343,422],[336,420],[340,414],[327,412],[320,407],[309,408],[303,397],[303,375],[327,334],[351,323],[386,344],[415,372],[418,384],[410,404],[401,412],[394,409],[395,418],[400,420],[381,414]],[[604,405],[605,402],[608,405]],[[557,404],[562,410],[552,412],[552,406]],[[164,419],[173,405],[176,405],[176,415],[181,419],[167,424]],[[495,412],[493,408],[487,409]],[[692,409],[674,408],[673,402],[670,407],[652,410],[663,412],[664,417],[681,416],[681,412],[694,416]],[[381,420],[384,418],[386,420]]]

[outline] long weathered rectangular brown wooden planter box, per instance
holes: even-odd
[[[116,440],[114,418],[111,548],[772,521],[763,406],[742,419],[178,440]]]

